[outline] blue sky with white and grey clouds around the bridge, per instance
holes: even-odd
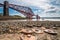
[[[5,0],[0,0],[3,3]],[[40,17],[60,17],[60,0],[7,0],[10,4],[17,4],[30,7],[34,14]],[[0,13],[3,8],[0,7]],[[22,15],[10,9],[10,15]],[[13,13],[12,13],[13,12]]]

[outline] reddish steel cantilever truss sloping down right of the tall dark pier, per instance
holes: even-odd
[[[29,7],[24,7],[24,6],[14,5],[14,4],[10,4],[9,7],[18,12],[21,12],[26,17],[34,16],[34,13],[32,12],[31,8],[29,8]]]

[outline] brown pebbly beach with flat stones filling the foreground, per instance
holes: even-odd
[[[57,35],[45,33],[51,29]],[[0,40],[60,40],[60,22],[0,21]]]

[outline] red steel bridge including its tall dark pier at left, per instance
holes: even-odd
[[[9,16],[9,8],[20,12],[27,18],[32,18],[33,16],[35,16],[35,14],[32,12],[31,8],[25,7],[25,6],[20,6],[20,5],[15,5],[15,4],[9,4],[8,1],[4,1],[4,4],[0,3],[0,7],[4,8],[3,16]]]

